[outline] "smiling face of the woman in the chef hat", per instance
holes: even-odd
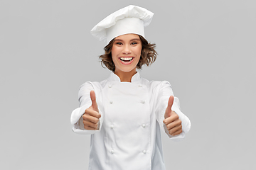
[[[136,72],[142,52],[142,42],[137,34],[120,35],[112,46],[115,73]]]

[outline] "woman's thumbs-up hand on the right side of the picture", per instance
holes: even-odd
[[[168,101],[168,106],[166,108],[166,112],[164,114],[164,124],[166,125],[169,134],[172,136],[181,134],[182,132],[182,125],[181,120],[178,118],[178,115],[171,111],[171,106],[174,103],[174,96],[170,96]]]

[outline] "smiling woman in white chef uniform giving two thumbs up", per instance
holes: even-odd
[[[91,135],[89,169],[165,169],[160,130],[179,140],[191,127],[169,82],[148,81],[137,72],[156,59],[155,45],[144,35],[153,15],[131,5],[91,30],[107,40],[100,59],[112,73],[80,86],[80,107],[71,115],[73,131]]]

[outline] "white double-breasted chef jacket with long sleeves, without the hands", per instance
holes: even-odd
[[[91,106],[90,91],[96,94],[99,108],[99,130],[85,130],[82,115]],[[164,157],[160,129],[172,140],[180,140],[191,128],[181,113],[178,98],[172,110],[182,122],[180,135],[171,136],[163,123],[170,96],[168,81],[148,81],[134,74],[132,82],[121,82],[111,73],[101,82],[87,81],[78,93],[80,107],[71,114],[73,131],[91,135],[90,170],[163,170]]]

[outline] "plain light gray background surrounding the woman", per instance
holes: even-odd
[[[192,127],[162,136],[166,169],[256,169],[256,1],[0,1],[0,169],[87,169],[90,136],[71,130],[78,88],[110,71],[90,30],[135,4],[155,13],[159,56],[142,77],[171,82]]]

